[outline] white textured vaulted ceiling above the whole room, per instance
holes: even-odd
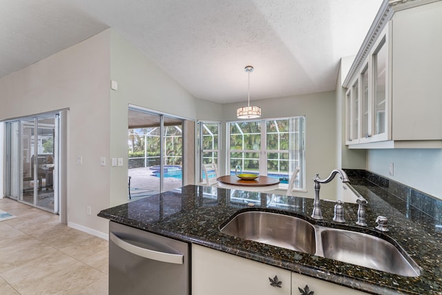
[[[0,77],[112,27],[195,97],[332,91],[382,0],[0,0]]]

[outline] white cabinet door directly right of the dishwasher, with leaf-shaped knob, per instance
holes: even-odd
[[[192,295],[273,295],[291,292],[291,272],[192,245]],[[270,285],[278,277],[280,287]]]

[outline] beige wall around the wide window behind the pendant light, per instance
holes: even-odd
[[[307,193],[297,193],[297,196],[314,198],[314,182],[312,179],[316,173],[325,178],[338,164],[336,162],[336,97],[334,91],[277,99],[262,99],[253,101],[251,104],[262,108],[262,118],[305,115]],[[244,103],[224,104],[224,121],[237,120],[236,108],[243,105]],[[223,125],[223,128],[225,128],[225,124]],[[336,199],[336,192],[332,184],[325,184],[321,187],[321,198]]]

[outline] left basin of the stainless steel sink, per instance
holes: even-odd
[[[235,216],[221,231],[245,240],[315,254],[315,229],[309,222],[282,214],[247,211]]]

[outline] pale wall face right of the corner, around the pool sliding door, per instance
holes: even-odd
[[[111,157],[124,158],[124,166],[111,167],[111,205],[127,202],[128,104],[189,120],[209,117],[221,120],[219,104],[195,99],[140,50],[111,31]],[[191,70],[191,69],[189,69]],[[193,158],[191,160],[194,160]]]

